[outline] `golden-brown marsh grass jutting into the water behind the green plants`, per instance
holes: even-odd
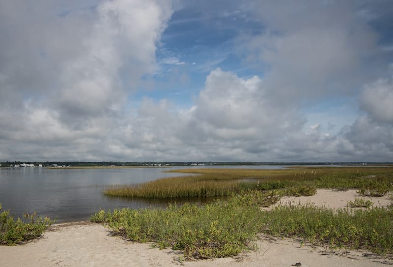
[[[287,188],[290,195],[315,194],[315,188],[373,188],[365,194],[391,190],[393,168],[313,168],[313,169],[187,169],[170,172],[197,176],[162,178],[142,184],[114,186],[107,196],[141,198],[223,197],[244,190]],[[306,187],[308,189],[306,190]],[[303,190],[303,191],[302,191]],[[385,193],[386,194],[386,193]]]

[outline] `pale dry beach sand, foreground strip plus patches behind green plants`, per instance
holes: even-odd
[[[355,190],[318,190],[312,197],[283,198],[281,203],[310,202],[332,208],[346,207],[354,200]],[[389,205],[387,197],[372,200],[375,205]],[[218,267],[369,267],[391,266],[393,258],[379,257],[367,251],[332,251],[328,247],[301,246],[300,242],[261,238],[256,252],[233,258],[183,262],[181,252],[170,249],[150,248],[149,244],[133,243],[110,236],[101,224],[88,222],[54,225],[43,237],[24,245],[0,246],[1,266],[218,266]],[[5,265],[4,265],[5,263]]]

